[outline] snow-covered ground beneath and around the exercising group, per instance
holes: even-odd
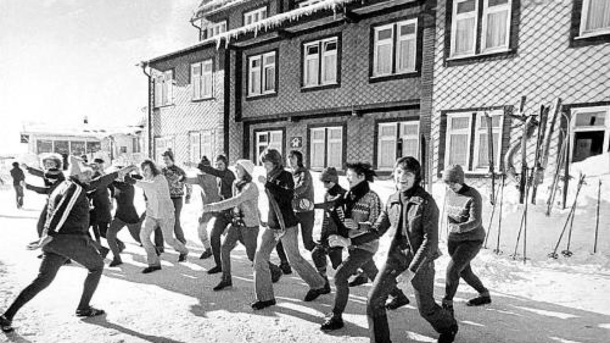
[[[512,184],[504,188],[500,250],[497,242],[498,212],[495,214],[487,247],[473,262],[475,272],[492,290],[493,303],[483,308],[469,308],[463,301],[475,294],[462,284],[456,297],[456,317],[460,330],[456,342],[610,342],[610,176],[608,154],[574,165],[589,175],[578,198],[572,233],[571,258],[565,258],[567,233],[560,245],[559,258],[550,259],[569,209],[555,208],[544,215],[548,179],[539,189],[537,205],[529,206],[527,256],[524,264],[511,255],[515,248],[523,205]],[[257,168],[256,173],[261,170]],[[317,199],[323,193],[314,174]],[[547,173],[548,174],[548,173]],[[547,175],[548,176],[548,175]],[[598,253],[593,255],[597,182],[601,178],[600,231]],[[256,178],[255,178],[256,179]],[[340,182],[345,186],[345,179]],[[498,182],[499,183],[499,182]],[[576,182],[570,183],[571,205]],[[475,184],[487,197],[488,184]],[[392,182],[373,184],[382,199],[392,192]],[[443,208],[445,189],[434,184],[439,208]],[[213,292],[220,276],[207,275],[213,266],[200,260],[202,247],[196,234],[198,190],[192,203],[185,205],[182,225],[191,253],[187,262],[177,263],[171,249],[162,255],[163,269],[143,275],[145,254],[129,237],[127,230],[119,237],[127,243],[124,264],[104,270],[92,305],[107,311],[106,316],[79,319],[74,309],[82,291],[85,270],[76,264],[63,267],[54,283],[30,301],[15,317],[14,333],[1,334],[11,342],[368,342],[365,317],[366,295],[370,284],[351,289],[344,320],[345,328],[332,333],[319,330],[323,316],[332,309],[334,292],[312,303],[302,299],[306,284],[296,275],[282,276],[274,289],[277,306],[253,311],[254,299],[251,264],[239,246],[232,255],[233,284],[228,291]],[[142,199],[137,196],[138,199]],[[559,197],[558,197],[559,198]],[[484,223],[489,225],[490,206],[485,201]],[[0,312],[9,306],[18,292],[35,277],[39,251],[28,251],[34,239],[35,223],[43,198],[26,192],[24,209],[13,205],[13,191],[0,190]],[[143,204],[138,203],[142,211]],[[265,198],[260,201],[266,208]],[[498,211],[498,210],[497,210]],[[263,211],[264,212],[264,211]],[[318,214],[319,217],[319,214]],[[318,218],[319,223],[319,218]],[[319,230],[319,228],[317,228]],[[444,237],[446,230],[441,228]],[[522,236],[523,238],[523,236]],[[523,245],[518,252],[523,253]],[[441,243],[446,252],[445,242]],[[377,262],[387,248],[376,255]],[[301,249],[309,259],[309,253]],[[276,259],[273,254],[272,258]],[[447,254],[436,264],[437,300],[444,293]],[[277,261],[277,260],[276,260]],[[108,261],[107,261],[108,262]],[[332,276],[332,272],[331,272]],[[332,281],[331,281],[332,283]],[[406,289],[407,295],[412,294]],[[412,295],[410,296],[413,300]],[[390,312],[390,328],[395,342],[434,342],[437,334],[417,313],[414,306]]]

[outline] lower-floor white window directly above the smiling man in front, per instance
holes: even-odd
[[[377,168],[392,169],[398,157],[419,159],[419,121],[394,121],[378,124]]]

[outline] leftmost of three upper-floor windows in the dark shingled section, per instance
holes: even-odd
[[[275,93],[275,51],[248,57],[248,96]]]

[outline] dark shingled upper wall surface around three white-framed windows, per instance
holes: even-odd
[[[246,49],[242,59],[242,94],[246,95],[248,60],[246,56],[278,49],[278,95],[268,98],[242,99],[242,117],[289,114],[304,110],[321,110],[333,107],[384,104],[393,101],[420,99],[419,77],[369,82],[369,51],[371,24],[413,17],[418,7],[362,20],[356,24],[343,24],[332,29],[302,35],[290,40]],[[301,92],[301,44],[319,37],[342,35],[340,87]],[[425,39],[426,40],[426,39]]]

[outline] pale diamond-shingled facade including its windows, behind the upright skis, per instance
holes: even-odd
[[[432,166],[487,175],[484,114],[493,117],[497,171],[521,139],[517,114],[539,114],[561,98],[548,167],[569,142],[569,161],[608,151],[610,4],[597,0],[446,0],[436,13]],[[551,117],[547,126],[551,125]],[[570,128],[568,130],[568,128]],[[528,142],[533,166],[536,134]],[[514,161],[520,165],[519,153]],[[551,169],[552,170],[552,169]]]

